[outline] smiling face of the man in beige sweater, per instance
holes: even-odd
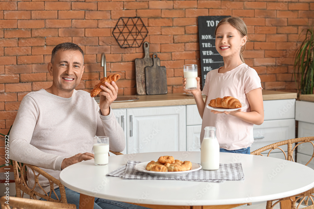
[[[53,63],[48,64],[48,71],[53,76],[52,87],[59,92],[71,92],[81,81],[83,56],[79,51],[59,50]]]

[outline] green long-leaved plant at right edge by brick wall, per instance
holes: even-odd
[[[303,32],[303,30],[302,30]],[[301,33],[302,33],[301,32]],[[305,39],[298,47],[294,61],[294,76],[298,95],[313,94],[314,79],[314,34],[313,27],[306,29]]]

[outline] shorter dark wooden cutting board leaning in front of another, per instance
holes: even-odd
[[[165,66],[158,63],[157,54],[153,54],[153,66],[145,67],[146,94],[166,94],[167,89],[167,72]]]

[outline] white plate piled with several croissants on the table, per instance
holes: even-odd
[[[190,161],[181,161],[174,159],[173,156],[160,156],[157,161],[148,161],[135,165],[135,170],[145,172],[156,176],[182,176],[189,172],[200,170],[202,168],[198,163]]]

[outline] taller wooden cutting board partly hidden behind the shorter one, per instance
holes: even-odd
[[[142,59],[135,59],[135,73],[136,73],[136,91],[138,95],[146,94],[145,85],[145,67],[153,66],[153,59],[149,57],[149,43],[145,41],[143,43],[144,57]],[[157,59],[157,63],[160,65],[160,59]]]

